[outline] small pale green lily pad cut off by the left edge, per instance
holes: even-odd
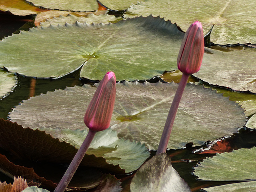
[[[0,69],[0,98],[10,92],[15,86],[16,76]]]

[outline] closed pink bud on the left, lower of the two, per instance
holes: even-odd
[[[102,131],[110,126],[116,98],[116,76],[107,72],[100,82],[84,115],[84,123],[92,131]]]

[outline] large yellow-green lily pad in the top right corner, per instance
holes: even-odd
[[[256,2],[250,0],[146,0],[132,5],[125,17],[160,15],[184,31],[198,20],[202,22],[204,33],[214,24],[211,40],[216,44],[255,44],[255,9]]]

